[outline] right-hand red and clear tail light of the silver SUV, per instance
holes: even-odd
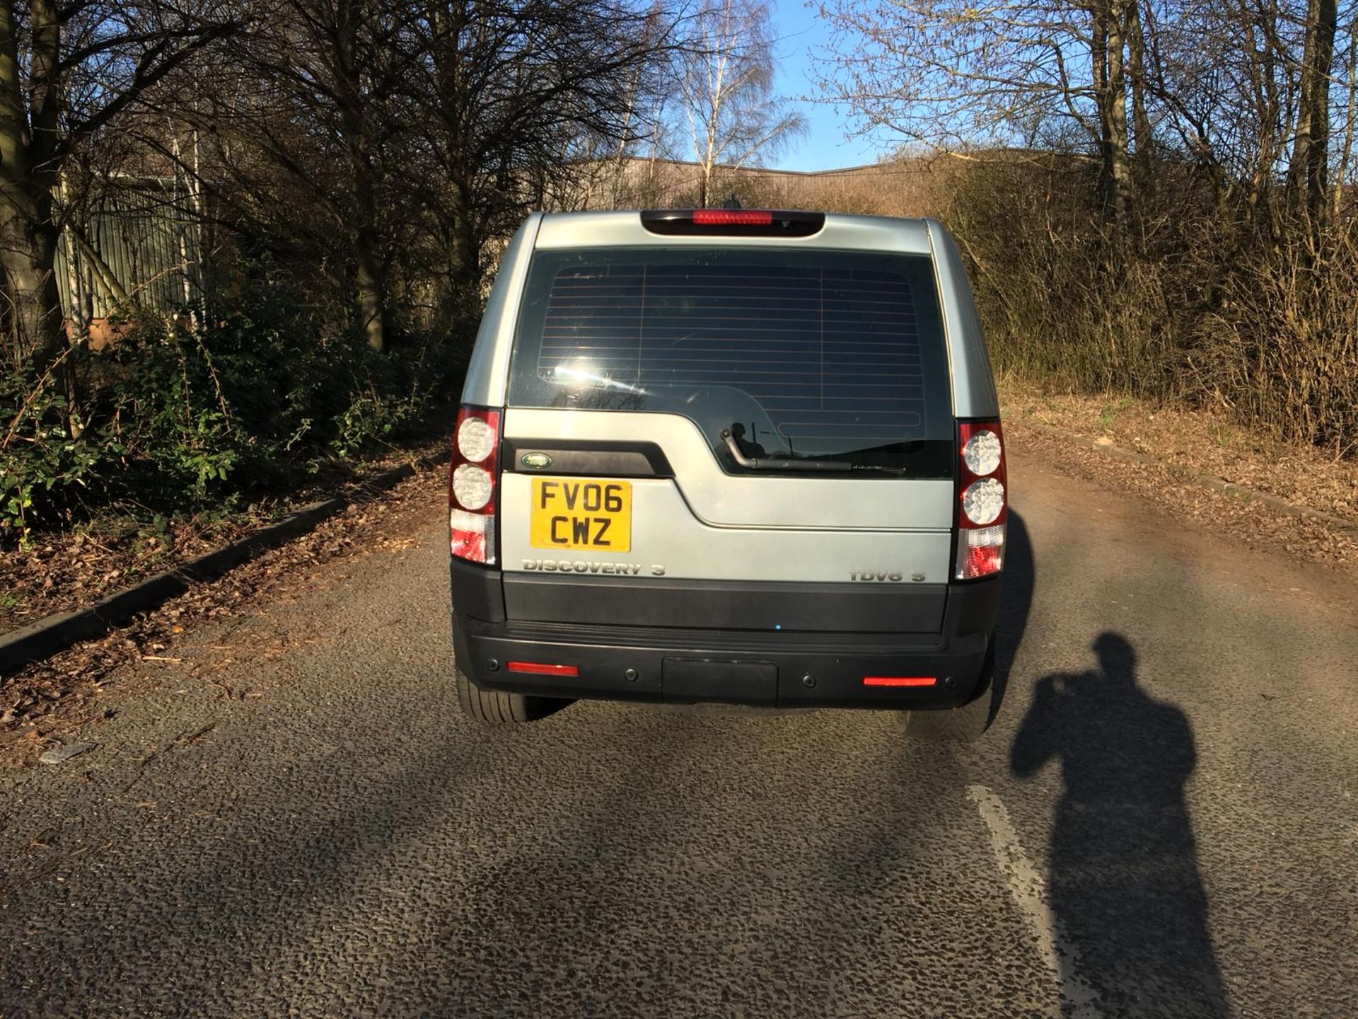
[[[998,573],[1005,564],[1009,492],[999,421],[957,424],[957,580]]]

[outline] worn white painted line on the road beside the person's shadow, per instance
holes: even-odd
[[[990,849],[1009,883],[1009,895],[1028,918],[1038,954],[1061,986],[1061,1014],[1071,1019],[1100,1019],[1095,1005],[1099,993],[1077,971],[1080,954],[1062,936],[1061,920],[1047,908],[1047,882],[1024,853],[1004,800],[985,785],[968,785],[967,798],[976,804],[980,819],[990,830]]]

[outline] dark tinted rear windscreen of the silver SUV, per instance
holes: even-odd
[[[538,251],[509,404],[683,414],[728,470],[724,432],[747,458],[949,477],[948,378],[928,255]]]

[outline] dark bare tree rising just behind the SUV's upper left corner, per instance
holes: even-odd
[[[640,110],[659,91],[676,20],[626,0],[445,0],[413,14],[425,56],[406,88],[430,173],[406,186],[441,253],[447,318],[473,314],[494,238],[650,133]]]

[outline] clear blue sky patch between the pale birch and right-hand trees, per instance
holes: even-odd
[[[811,50],[823,45],[828,29],[803,0],[770,0],[773,35],[777,38],[778,72],[774,88],[789,98],[815,95]],[[842,166],[875,163],[881,152],[870,139],[845,139],[849,130],[845,111],[824,103],[797,105],[811,122],[811,130],[794,141],[770,164],[781,170],[832,170]]]

